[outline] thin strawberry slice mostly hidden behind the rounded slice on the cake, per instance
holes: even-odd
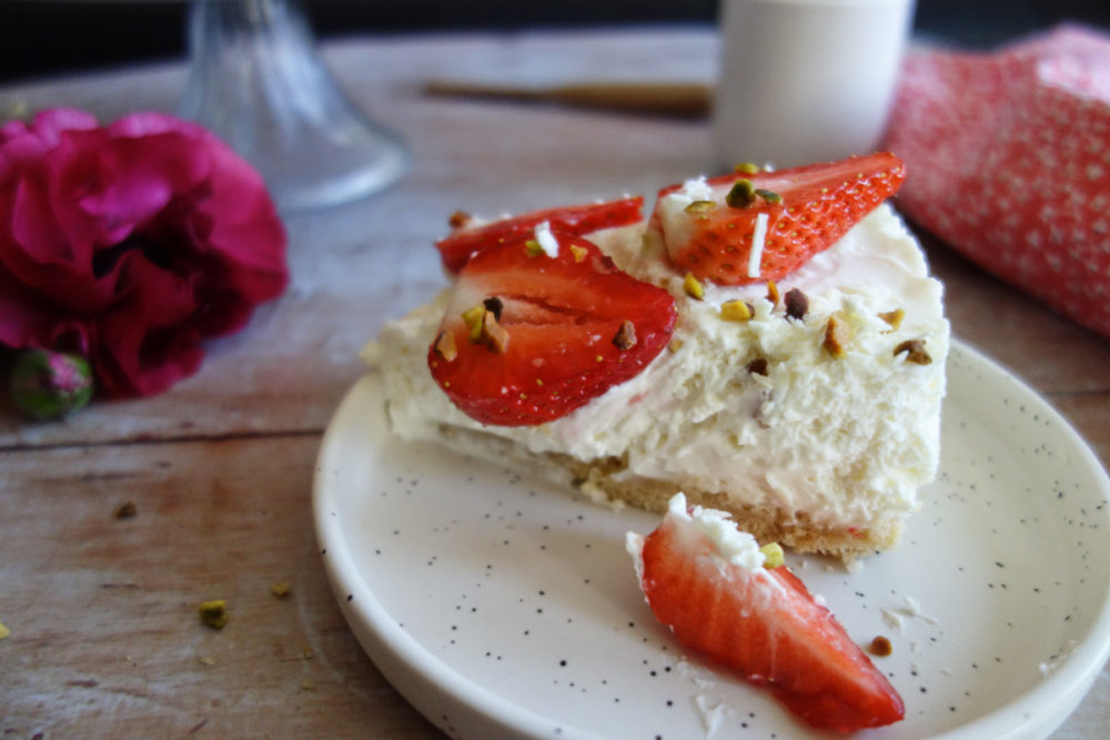
[[[440,250],[443,266],[457,273],[471,256],[491,244],[513,241],[531,234],[532,230],[546,221],[555,231],[582,236],[593,231],[610,226],[626,226],[640,220],[644,199],[626,197],[608,203],[587,203],[558,209],[533,211],[518,216],[492,221],[481,226],[467,226],[468,216],[458,214],[453,223],[461,225],[451,235],[435,243]]]

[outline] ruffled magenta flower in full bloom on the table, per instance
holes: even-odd
[[[0,344],[77,352],[109,397],[192,375],[287,282],[262,178],[160,113],[0,128]]]

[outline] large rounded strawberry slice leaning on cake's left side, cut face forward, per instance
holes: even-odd
[[[557,243],[554,256],[519,235],[478,249],[428,348],[436,383],[483,424],[569,414],[639,374],[674,332],[669,293],[622,272],[582,237],[544,236]]]

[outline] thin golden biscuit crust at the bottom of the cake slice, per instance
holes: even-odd
[[[583,495],[601,503],[620,501],[647,511],[665,514],[667,501],[679,490],[690,505],[720,509],[733,515],[738,527],[759,543],[778,543],[798,553],[815,553],[850,562],[876,551],[892,549],[901,537],[904,521],[888,519],[867,528],[817,525],[804,511],[780,507],[768,508],[740,504],[723,491],[703,490],[690,486],[654,478],[625,478],[620,458],[610,457],[589,462],[569,455],[546,453],[536,455],[513,443],[478,432],[440,425],[441,435],[452,447],[470,452],[493,462],[511,462],[559,483],[569,483]]]

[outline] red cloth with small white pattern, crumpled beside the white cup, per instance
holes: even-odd
[[[1110,336],[1110,38],[1064,26],[995,53],[912,51],[884,149],[899,207]]]

